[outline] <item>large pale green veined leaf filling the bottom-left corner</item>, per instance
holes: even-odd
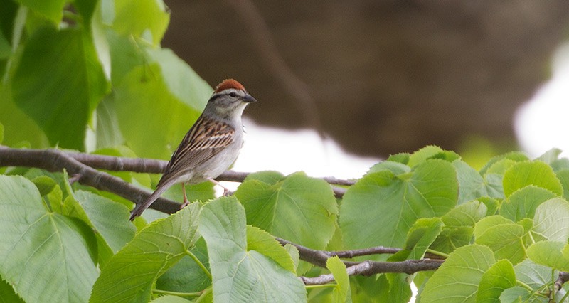
[[[0,225],[0,275],[26,302],[87,301],[98,271],[82,222],[48,213],[31,181],[0,176]]]

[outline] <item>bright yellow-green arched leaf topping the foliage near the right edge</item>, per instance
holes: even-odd
[[[563,187],[551,166],[541,162],[519,162],[504,174],[504,194],[511,193],[528,185],[534,185],[563,196]]]

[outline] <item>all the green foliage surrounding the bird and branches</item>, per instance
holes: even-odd
[[[0,143],[167,159],[211,93],[161,48],[155,0],[0,6]],[[152,144],[148,144],[152,142]],[[3,168],[0,299],[8,302],[561,302],[569,270],[569,160],[511,152],[474,169],[439,147],[396,154],[334,196],[302,172],[250,174],[232,197],[191,187],[172,216],[74,183]],[[1,161],[0,161],[1,162]],[[112,172],[151,188],[156,176]],[[179,198],[172,188],[165,196]],[[349,275],[313,250],[386,246],[351,261],[445,259],[434,272]],[[349,265],[349,264],[348,264]],[[304,286],[298,276],[331,275]],[[564,282],[564,281],[561,281]]]

